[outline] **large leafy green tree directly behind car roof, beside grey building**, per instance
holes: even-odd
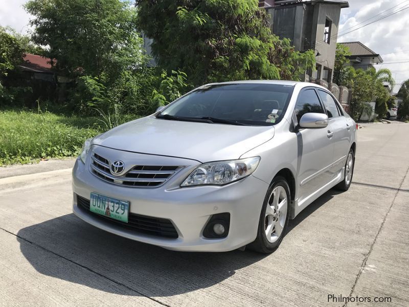
[[[157,63],[193,85],[239,79],[293,79],[315,64],[268,27],[257,0],[138,0],[139,26]]]

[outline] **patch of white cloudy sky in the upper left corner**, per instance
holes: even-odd
[[[23,5],[27,0],[2,0],[0,4],[0,26],[10,26],[19,33],[30,30],[30,15]]]

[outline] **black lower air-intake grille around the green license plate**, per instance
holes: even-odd
[[[89,211],[89,200],[77,195],[77,205],[84,212],[113,225],[132,230],[137,233],[150,234],[166,238],[178,238],[179,235],[172,222],[166,218],[151,217],[129,212],[128,223],[112,220],[112,218]]]

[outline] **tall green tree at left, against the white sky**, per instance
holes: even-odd
[[[75,78],[67,104],[73,111],[108,113],[125,104],[129,112],[139,109],[145,56],[130,2],[30,0],[26,10],[34,16],[34,42],[48,46],[56,70]]]

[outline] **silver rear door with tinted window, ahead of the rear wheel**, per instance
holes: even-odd
[[[334,97],[324,90],[317,90],[325,111],[329,118],[329,129],[333,133],[334,156],[332,158],[332,178],[337,176],[337,172],[345,165],[349,147],[351,144],[351,123],[347,121],[339,104]]]

